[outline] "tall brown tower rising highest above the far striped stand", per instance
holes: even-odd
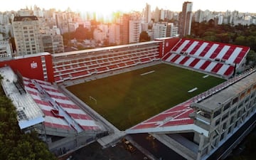
[[[191,34],[192,2],[185,1],[178,16],[178,33],[181,37]]]

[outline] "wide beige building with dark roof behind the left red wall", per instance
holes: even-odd
[[[36,16],[15,16],[13,22],[16,55],[43,52],[40,23]]]

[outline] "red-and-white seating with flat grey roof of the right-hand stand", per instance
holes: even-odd
[[[193,124],[193,119],[189,114],[193,112],[193,107],[201,107],[204,110],[218,110],[220,104],[225,104],[225,101],[230,98],[235,98],[238,92],[245,88],[255,85],[256,73],[255,70],[247,70],[242,75],[223,82],[222,84],[213,87],[212,89],[191,98],[190,100],[171,107],[169,110],[161,112],[154,117],[141,122],[134,127],[127,129],[128,134],[136,133],[177,133],[196,131],[203,133],[206,137],[208,131]],[[247,91],[245,91],[246,94]]]

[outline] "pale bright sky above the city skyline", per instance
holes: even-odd
[[[65,11],[70,7],[72,11],[95,11],[98,13],[111,13],[113,11],[142,11],[146,3],[151,5],[151,11],[156,9],[169,9],[181,11],[185,0],[1,0],[0,11],[18,11],[26,6],[38,6],[41,9],[57,9]],[[4,1],[4,2],[3,2]],[[239,11],[256,13],[252,0],[192,0],[193,11],[206,9],[210,11]]]

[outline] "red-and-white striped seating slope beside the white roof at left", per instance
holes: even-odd
[[[45,127],[75,132],[98,131],[102,128],[89,114],[67,96],[43,80],[23,78],[28,95],[45,114]]]

